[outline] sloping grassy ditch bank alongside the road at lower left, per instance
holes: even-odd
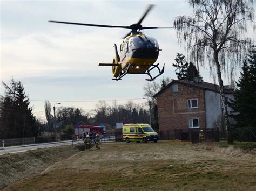
[[[79,151],[79,147],[68,145],[0,155],[0,189],[18,180],[39,174],[49,166]]]

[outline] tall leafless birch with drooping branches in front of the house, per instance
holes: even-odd
[[[217,73],[228,143],[233,143],[221,73],[233,81],[235,67],[246,57],[250,40],[245,34],[247,20],[254,17],[253,0],[188,0],[188,3],[194,9],[193,15],[174,20],[178,41],[185,42],[187,55],[197,66],[208,62],[214,81],[214,70]]]

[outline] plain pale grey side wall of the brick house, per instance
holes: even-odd
[[[206,128],[213,128],[221,115],[220,94],[205,90]]]

